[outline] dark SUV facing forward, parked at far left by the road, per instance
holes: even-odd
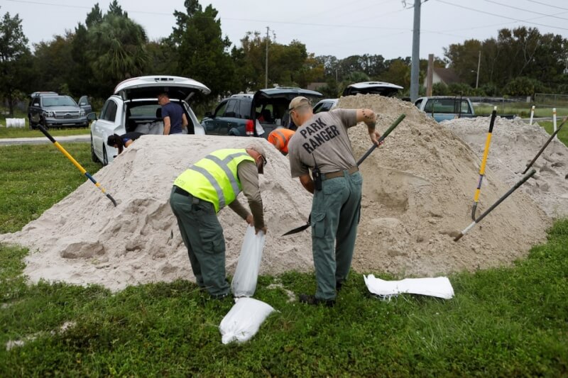
[[[31,94],[28,120],[32,129],[39,124],[45,128],[89,126],[84,109],[81,109],[70,96],[55,92],[34,92]]]

